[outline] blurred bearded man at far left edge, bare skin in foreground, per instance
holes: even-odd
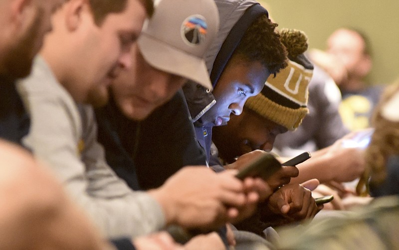
[[[29,117],[15,82],[30,73],[63,2],[0,1],[0,249],[111,249],[54,176],[18,146]]]

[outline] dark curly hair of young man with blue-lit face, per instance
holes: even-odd
[[[271,74],[277,74],[287,67],[287,51],[273,23],[266,14],[260,15],[245,31],[233,56],[254,62],[259,61]]]

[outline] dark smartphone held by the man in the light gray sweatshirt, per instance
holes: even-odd
[[[281,169],[281,163],[272,154],[265,153],[250,162],[246,167],[241,168],[235,177],[243,180],[250,176],[266,180],[279,169]]]

